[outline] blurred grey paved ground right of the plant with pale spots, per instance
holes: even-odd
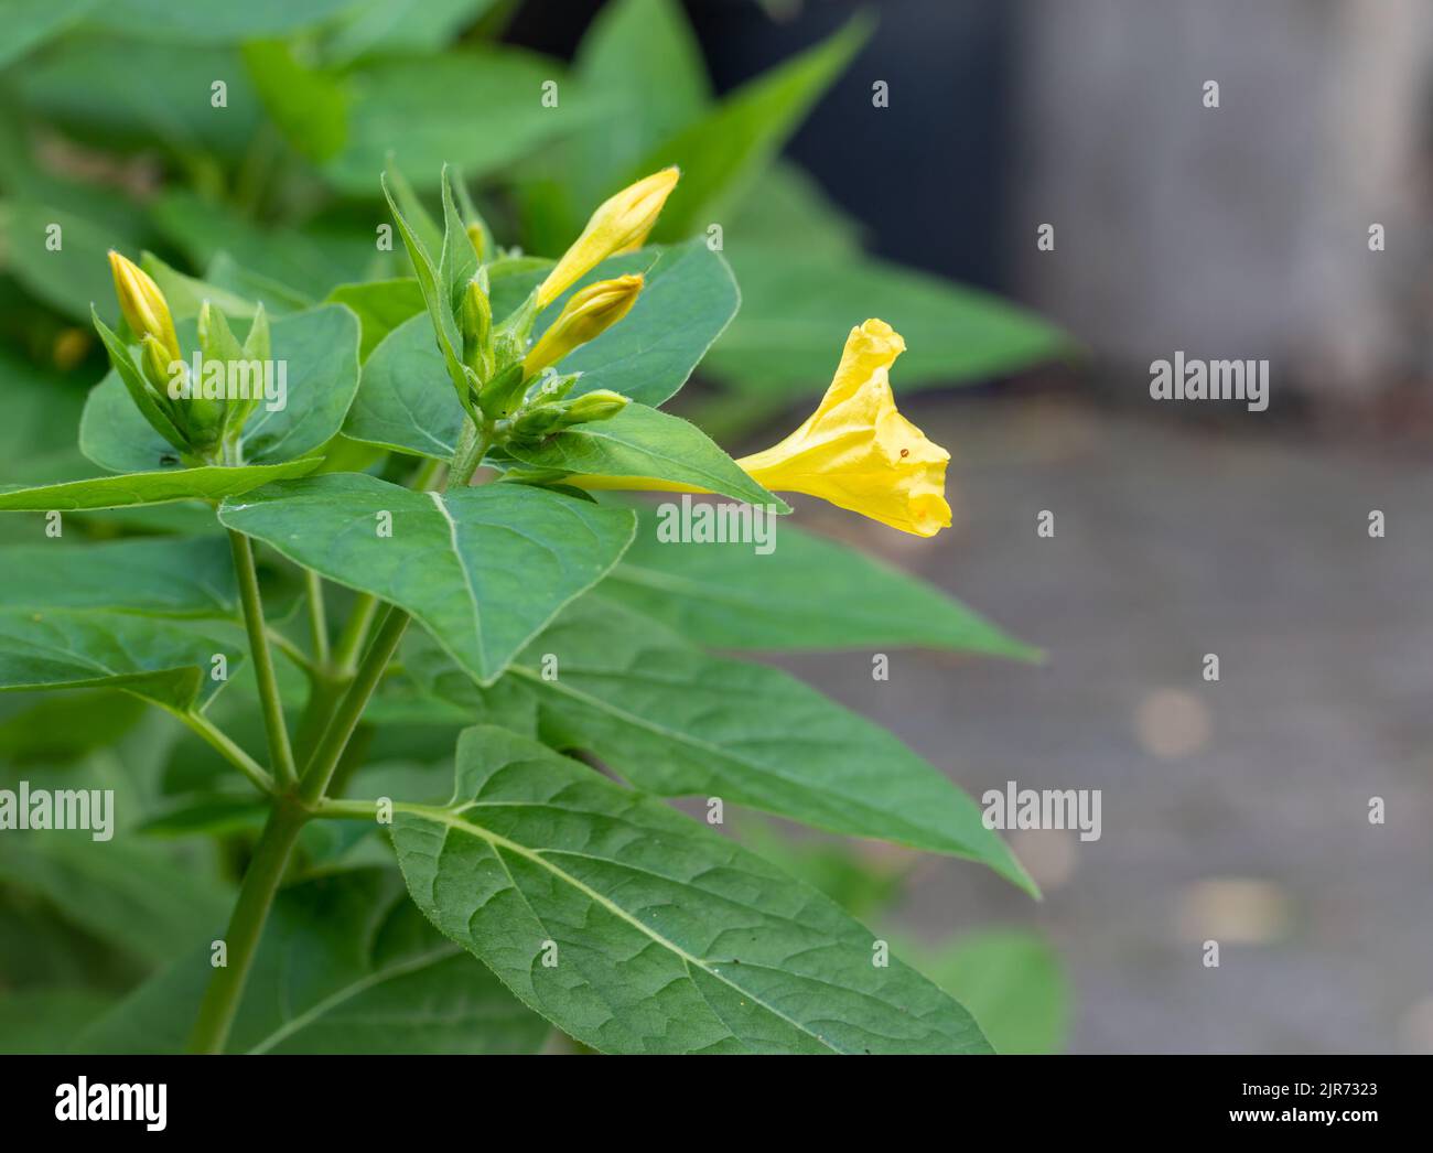
[[[924,861],[907,924],[1040,927],[1080,1051],[1433,1051],[1433,465],[1049,400],[913,414],[956,454],[954,531],[800,511],[1049,663],[911,652],[886,685],[868,655],[784,663],[977,796],[1102,789],[1103,836],[1019,835],[1040,905]]]

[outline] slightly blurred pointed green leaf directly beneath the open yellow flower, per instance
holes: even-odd
[[[639,513],[636,539],[602,594],[699,645],[1039,655],[940,589],[790,521],[774,529],[768,553],[663,540],[661,523],[649,506]]]

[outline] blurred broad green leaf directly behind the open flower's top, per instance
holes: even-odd
[[[747,248],[741,315],[706,370],[767,400],[821,392],[845,334],[876,315],[906,339],[897,392],[1013,372],[1072,351],[1053,325],[987,292],[874,259]]]

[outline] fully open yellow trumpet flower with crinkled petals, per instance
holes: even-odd
[[[890,367],[906,342],[886,321],[867,321],[845,339],[821,404],[780,444],[738,460],[772,491],[805,493],[904,533],[930,537],[950,526],[950,454],[896,411]],[[569,477],[583,488],[705,491],[648,477]]]

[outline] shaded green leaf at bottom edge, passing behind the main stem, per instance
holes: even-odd
[[[208,942],[188,951],[75,1051],[182,1051],[212,971]],[[533,1053],[547,1031],[433,931],[391,869],[357,869],[279,894],[226,1051]]]

